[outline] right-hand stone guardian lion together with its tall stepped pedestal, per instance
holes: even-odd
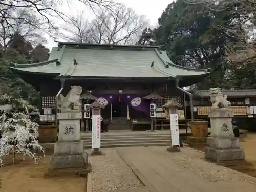
[[[239,146],[239,138],[234,137],[232,129],[233,112],[227,96],[219,88],[211,88],[209,113],[211,134],[207,138],[205,158],[213,161],[244,160],[245,155]]]

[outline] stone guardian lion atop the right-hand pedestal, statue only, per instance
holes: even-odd
[[[227,100],[227,95],[223,95],[220,88],[210,88],[212,109],[227,108],[231,103]]]

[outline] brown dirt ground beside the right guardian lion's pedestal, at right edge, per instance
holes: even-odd
[[[248,133],[246,138],[241,138],[240,147],[244,148],[245,161],[221,162],[218,164],[256,177],[256,133]],[[204,151],[204,148],[196,149]]]

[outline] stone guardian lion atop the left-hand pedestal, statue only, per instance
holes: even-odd
[[[80,96],[82,94],[82,87],[80,86],[71,86],[71,90],[64,97],[60,95],[60,99],[58,101],[58,108],[61,112],[65,111],[81,111],[81,102]]]

